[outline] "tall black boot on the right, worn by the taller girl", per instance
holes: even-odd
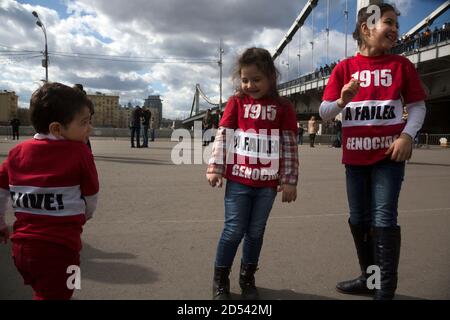
[[[398,280],[400,259],[400,227],[374,228],[375,265],[380,267],[381,288],[375,290],[374,300],[392,300]]]

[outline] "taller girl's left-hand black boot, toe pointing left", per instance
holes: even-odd
[[[373,264],[373,245],[370,226],[352,225],[349,221],[353,241],[355,242],[361,275],[353,280],[342,281],[336,285],[336,290],[345,294],[374,294],[367,288],[367,267]]]

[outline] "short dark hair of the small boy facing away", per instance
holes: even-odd
[[[36,132],[47,134],[50,123],[67,126],[84,107],[94,113],[92,102],[79,89],[58,82],[45,83],[31,96],[31,124]]]

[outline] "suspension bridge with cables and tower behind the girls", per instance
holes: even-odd
[[[335,63],[330,65],[325,64],[320,66],[314,63],[314,44],[317,44],[314,38],[314,10],[317,10],[319,1],[327,3],[326,15],[327,25],[325,28],[326,34],[326,56],[329,55],[329,2],[330,0],[308,0],[304,8],[301,10],[292,26],[289,28],[285,36],[279,42],[275,52],[272,56],[279,69],[287,67],[287,79],[278,85],[279,94],[288,98],[295,106],[297,120],[307,121],[311,116],[319,116],[319,106],[322,101],[323,91],[328,83],[328,79],[332,72]],[[370,4],[379,4],[381,0],[356,0],[357,10]],[[393,48],[392,53],[401,54],[407,57],[414,63],[425,90],[428,93],[426,100],[427,116],[422,131],[428,133],[448,133],[450,132],[450,24],[439,26],[437,31],[432,32],[428,37],[424,37],[420,32],[433,25],[433,22],[443,15],[450,7],[450,0],[444,1],[433,12],[424,13],[424,17],[409,31],[401,35],[396,47]],[[345,17],[345,53],[342,59],[348,57],[348,0],[345,1],[343,8],[343,16]],[[316,13],[317,14],[317,13]],[[298,75],[294,78],[290,77],[289,67],[289,47],[293,42],[294,36],[297,34],[299,44],[301,43],[301,32],[307,21],[311,21],[313,40],[311,45],[311,61],[312,65],[310,72],[300,73],[300,50],[297,53],[298,57]],[[450,22],[450,21],[446,21]],[[309,23],[309,22],[308,22]],[[322,38],[323,39],[323,38]],[[323,54],[323,53],[322,53]],[[287,55],[287,59],[286,59]],[[283,60],[284,58],[284,60]],[[316,58],[317,59],[317,58]],[[329,62],[328,59],[325,61]],[[320,68],[319,68],[320,67]],[[314,71],[311,71],[314,70]],[[283,70],[281,70],[283,71]],[[183,120],[183,125],[186,127],[192,126],[193,122],[200,120],[206,109],[198,107],[200,97],[208,104],[209,109],[221,109],[219,103],[213,103],[201,91],[200,86],[196,86],[194,94],[194,102],[191,108],[190,117]],[[196,102],[197,101],[197,102]],[[194,108],[195,106],[195,108]],[[223,105],[222,105],[223,107]]]

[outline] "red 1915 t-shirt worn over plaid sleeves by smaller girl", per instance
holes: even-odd
[[[276,187],[280,136],[284,130],[297,134],[292,104],[283,98],[233,96],[228,99],[219,126],[235,130],[225,177],[252,187]]]

